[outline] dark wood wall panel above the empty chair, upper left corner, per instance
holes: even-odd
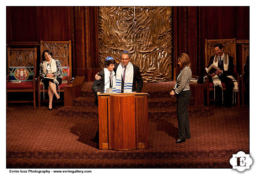
[[[11,6],[11,42],[38,41],[36,7]]]

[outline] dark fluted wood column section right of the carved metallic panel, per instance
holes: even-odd
[[[173,7],[174,19],[174,64],[173,77],[180,70],[177,57],[187,53],[193,74],[200,76],[202,59],[202,17],[201,7]],[[174,79],[173,79],[174,80]]]

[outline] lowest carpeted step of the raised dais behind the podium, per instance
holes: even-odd
[[[206,106],[188,106],[189,117],[210,115],[210,108]],[[98,107],[62,107],[57,110],[57,115],[62,117],[98,118]],[[176,105],[169,108],[149,108],[149,118],[171,118],[176,117]]]

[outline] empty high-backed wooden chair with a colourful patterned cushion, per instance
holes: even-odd
[[[8,48],[6,77],[6,107],[7,103],[30,103],[36,107],[36,48]],[[16,83],[14,83],[16,82]],[[19,83],[20,82],[20,83]],[[8,92],[31,92],[29,101],[8,101]],[[19,96],[17,96],[19,97]]]

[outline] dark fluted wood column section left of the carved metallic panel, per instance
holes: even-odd
[[[98,7],[73,7],[76,75],[94,81],[99,71]]]

